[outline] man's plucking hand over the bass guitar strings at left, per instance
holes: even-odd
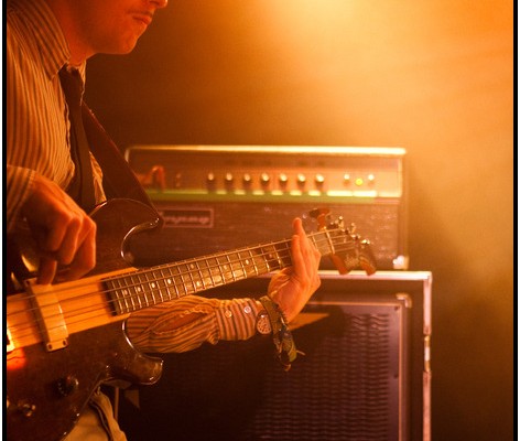
[[[96,265],[96,224],[54,182],[36,175],[22,208],[40,255],[39,283],[74,280]]]

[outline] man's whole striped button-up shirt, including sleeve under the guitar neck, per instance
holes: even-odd
[[[7,8],[7,220],[13,232],[36,173],[66,190],[74,176],[68,115],[58,72],[69,50],[43,0],[10,0]],[[86,65],[79,66],[85,79]],[[96,198],[101,172],[93,160]],[[259,303],[252,299],[187,297],[132,314],[127,332],[145,352],[183,352],[204,342],[254,335]]]

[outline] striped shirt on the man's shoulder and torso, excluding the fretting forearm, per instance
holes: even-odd
[[[10,1],[7,13],[7,226],[12,232],[34,175],[66,190],[75,165],[58,77],[69,51],[59,24],[43,1]],[[85,65],[78,69],[85,77]],[[101,202],[101,173],[94,159],[93,169],[96,198]]]

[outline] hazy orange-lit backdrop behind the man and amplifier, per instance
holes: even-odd
[[[432,439],[513,439],[513,4],[175,0],[87,100],[139,143],[403,147]],[[247,226],[246,226],[247,227]]]

